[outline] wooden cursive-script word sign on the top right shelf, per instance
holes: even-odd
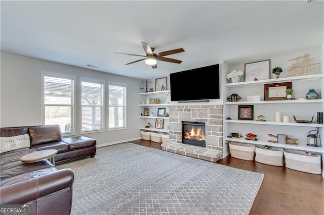
[[[320,63],[310,64],[311,60],[308,53],[305,53],[304,56],[296,57],[288,61],[295,61],[289,69],[288,77],[316,74],[320,65]]]

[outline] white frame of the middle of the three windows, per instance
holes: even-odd
[[[91,130],[91,131],[82,131],[82,82],[89,82],[89,83],[95,83],[95,84],[102,84],[103,85],[103,95],[102,95],[102,129],[100,130]],[[98,132],[104,132],[105,131],[105,125],[106,125],[106,122],[105,122],[105,103],[106,103],[106,99],[105,99],[105,81],[104,80],[99,80],[99,79],[92,79],[92,78],[86,78],[86,77],[80,77],[80,81],[79,81],[79,99],[80,99],[80,106],[79,106],[79,113],[80,113],[80,116],[79,116],[79,119],[80,119],[80,125],[79,125],[79,132],[80,134],[90,134],[90,133],[98,133]],[[90,105],[89,105],[90,106]]]

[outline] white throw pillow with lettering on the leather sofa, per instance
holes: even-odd
[[[0,146],[1,153],[30,147],[29,134],[22,134],[13,137],[1,137]]]

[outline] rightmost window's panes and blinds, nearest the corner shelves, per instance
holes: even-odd
[[[109,84],[109,129],[126,128],[126,85]]]

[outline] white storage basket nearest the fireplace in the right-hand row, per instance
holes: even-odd
[[[254,159],[255,145],[238,142],[230,142],[228,145],[232,157],[244,160]]]

